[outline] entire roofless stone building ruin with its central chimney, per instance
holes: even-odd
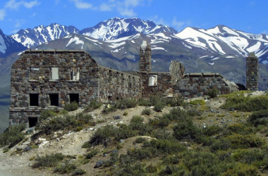
[[[228,94],[237,89],[218,73],[188,73],[178,61],[171,61],[169,72],[152,72],[151,47],[140,46],[139,70],[121,72],[99,65],[85,51],[25,51],[11,68],[10,125],[28,122],[32,127],[45,109],[60,111],[65,103],[80,107],[90,101],[110,103],[126,97],[192,98],[209,89]]]

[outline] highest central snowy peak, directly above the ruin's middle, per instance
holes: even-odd
[[[111,18],[98,23],[94,27],[80,30],[79,33],[106,41],[138,33],[156,34],[160,32],[177,33],[172,27],[156,25],[150,20],[141,20],[140,18]]]

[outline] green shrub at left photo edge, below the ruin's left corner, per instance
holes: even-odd
[[[25,137],[24,129],[25,124],[9,126],[3,134],[0,134],[0,146],[8,145],[10,148],[21,142]]]

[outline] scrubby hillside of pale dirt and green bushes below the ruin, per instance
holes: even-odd
[[[1,148],[0,171],[11,176],[267,175],[268,121],[263,117],[267,117],[268,99],[264,94],[235,92],[191,99],[190,104],[155,96],[139,101],[147,106],[126,100],[108,108],[92,104],[89,113],[78,109],[54,117],[54,125],[42,118],[39,130],[30,132],[23,142],[9,151]],[[232,103],[238,99],[245,103]],[[169,106],[157,112],[157,106],[150,107],[157,102]],[[121,104],[126,108],[113,108]],[[148,115],[142,114],[145,109]],[[63,155],[54,155],[59,152]],[[51,159],[49,163],[44,156]]]

